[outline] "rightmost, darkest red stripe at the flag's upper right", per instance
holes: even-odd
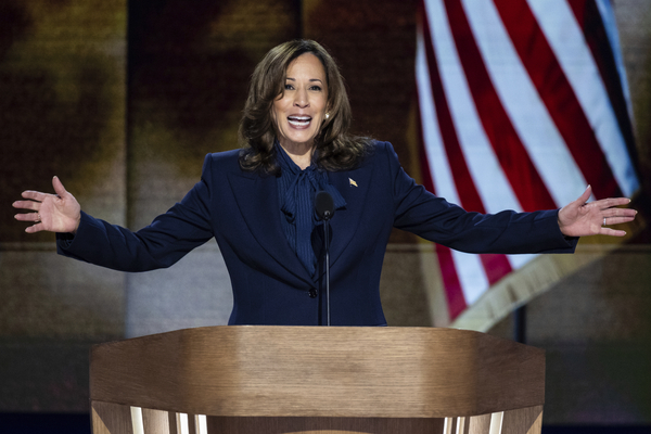
[[[569,2],[578,25],[580,26],[586,42],[592,53],[592,59],[599,68],[599,75],[605,86],[608,98],[611,102],[617,125],[628,154],[633,156],[633,161],[637,161],[637,149],[635,146],[635,138],[633,136],[633,125],[628,115],[626,99],[622,88],[623,81],[617,69],[613,47],[605,31],[603,18],[599,13],[599,8],[595,0],[574,0]]]

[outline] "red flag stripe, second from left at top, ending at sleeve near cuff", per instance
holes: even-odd
[[[556,208],[493,86],[460,0],[446,1],[450,29],[484,130],[524,210]],[[509,3],[511,4],[511,3]]]

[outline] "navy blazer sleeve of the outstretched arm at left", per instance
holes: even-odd
[[[148,227],[132,232],[82,212],[75,235],[56,234],[56,250],[64,256],[122,271],[169,267],[214,235],[209,179],[210,155],[204,162],[201,180]]]

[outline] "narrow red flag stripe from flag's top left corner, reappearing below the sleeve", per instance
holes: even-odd
[[[485,214],[486,208],[480,196],[480,193],[472,181],[472,176],[465,156],[461,150],[459,143],[459,137],[452,122],[452,115],[449,110],[447,97],[443,89],[443,81],[438,72],[438,63],[436,61],[436,53],[432,43],[432,34],[430,29],[430,21],[426,15],[423,15],[423,39],[425,43],[425,59],[427,60],[427,67],[430,71],[430,82],[432,87],[432,98],[434,100],[434,106],[436,107],[436,117],[438,118],[438,127],[443,144],[445,146],[445,153],[447,155],[448,164],[450,165],[450,171],[455,180],[455,187],[459,205],[467,210],[474,210],[477,213]],[[553,207],[553,206],[552,206]],[[490,284],[497,282],[499,279],[512,271],[511,264],[505,255],[480,255],[482,266],[486,272],[486,277]]]

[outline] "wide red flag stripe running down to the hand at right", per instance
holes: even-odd
[[[540,99],[596,197],[621,196],[572,85],[526,1],[495,0],[495,5]]]

